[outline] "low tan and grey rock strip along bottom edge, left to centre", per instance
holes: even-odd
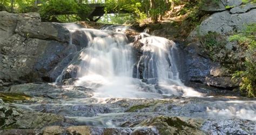
[[[158,134],[154,127],[137,127],[137,128],[104,128],[93,126],[48,126],[42,130],[21,130],[11,129],[2,130],[1,134]]]

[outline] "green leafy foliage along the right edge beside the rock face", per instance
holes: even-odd
[[[246,26],[245,30],[242,30],[237,35],[230,37],[230,40],[237,40],[240,46],[244,47],[248,55],[244,63],[245,70],[236,71],[233,74],[233,78],[241,78],[240,85],[241,92],[246,92],[247,97],[256,96],[256,24],[250,24]]]

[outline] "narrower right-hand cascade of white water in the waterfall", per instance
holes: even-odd
[[[186,97],[200,97],[201,93],[186,87],[179,78],[177,68],[176,44],[163,37],[150,36],[141,33],[140,42],[144,44],[142,47],[143,56],[137,65],[137,78],[142,76],[145,79],[157,78],[156,83],[164,95],[177,95]],[[142,75],[139,73],[139,65],[143,65]]]

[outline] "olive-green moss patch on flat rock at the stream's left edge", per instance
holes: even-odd
[[[7,103],[13,103],[15,101],[30,100],[31,97],[28,95],[18,93],[3,93],[0,92],[0,98]]]

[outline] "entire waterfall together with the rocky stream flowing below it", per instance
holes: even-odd
[[[135,48],[112,27],[104,30],[65,25],[73,49],[55,84],[22,84],[8,90],[32,98],[2,106],[1,129],[42,129],[17,123],[18,116],[53,113],[42,131],[23,133],[226,134],[256,132],[256,101],[232,95],[211,96],[210,87],[187,87],[180,78],[178,45],[138,35]],[[112,31],[110,31],[110,29]],[[79,45],[73,45],[73,43]],[[136,53],[139,52],[139,53]],[[65,59],[63,60],[65,61]],[[58,69],[58,67],[56,67]],[[198,92],[200,91],[200,92]],[[214,93],[214,92],[213,92]],[[228,97],[229,96],[229,97]],[[2,104],[0,102],[0,104]],[[20,110],[17,110],[19,107]],[[23,110],[21,110],[23,109]],[[12,111],[10,111],[12,110]],[[11,112],[11,113],[10,113]],[[26,123],[33,121],[28,116]],[[22,121],[22,122],[23,122]],[[14,123],[9,123],[14,122]],[[61,124],[59,124],[61,123]],[[0,131],[8,133],[10,131]]]

